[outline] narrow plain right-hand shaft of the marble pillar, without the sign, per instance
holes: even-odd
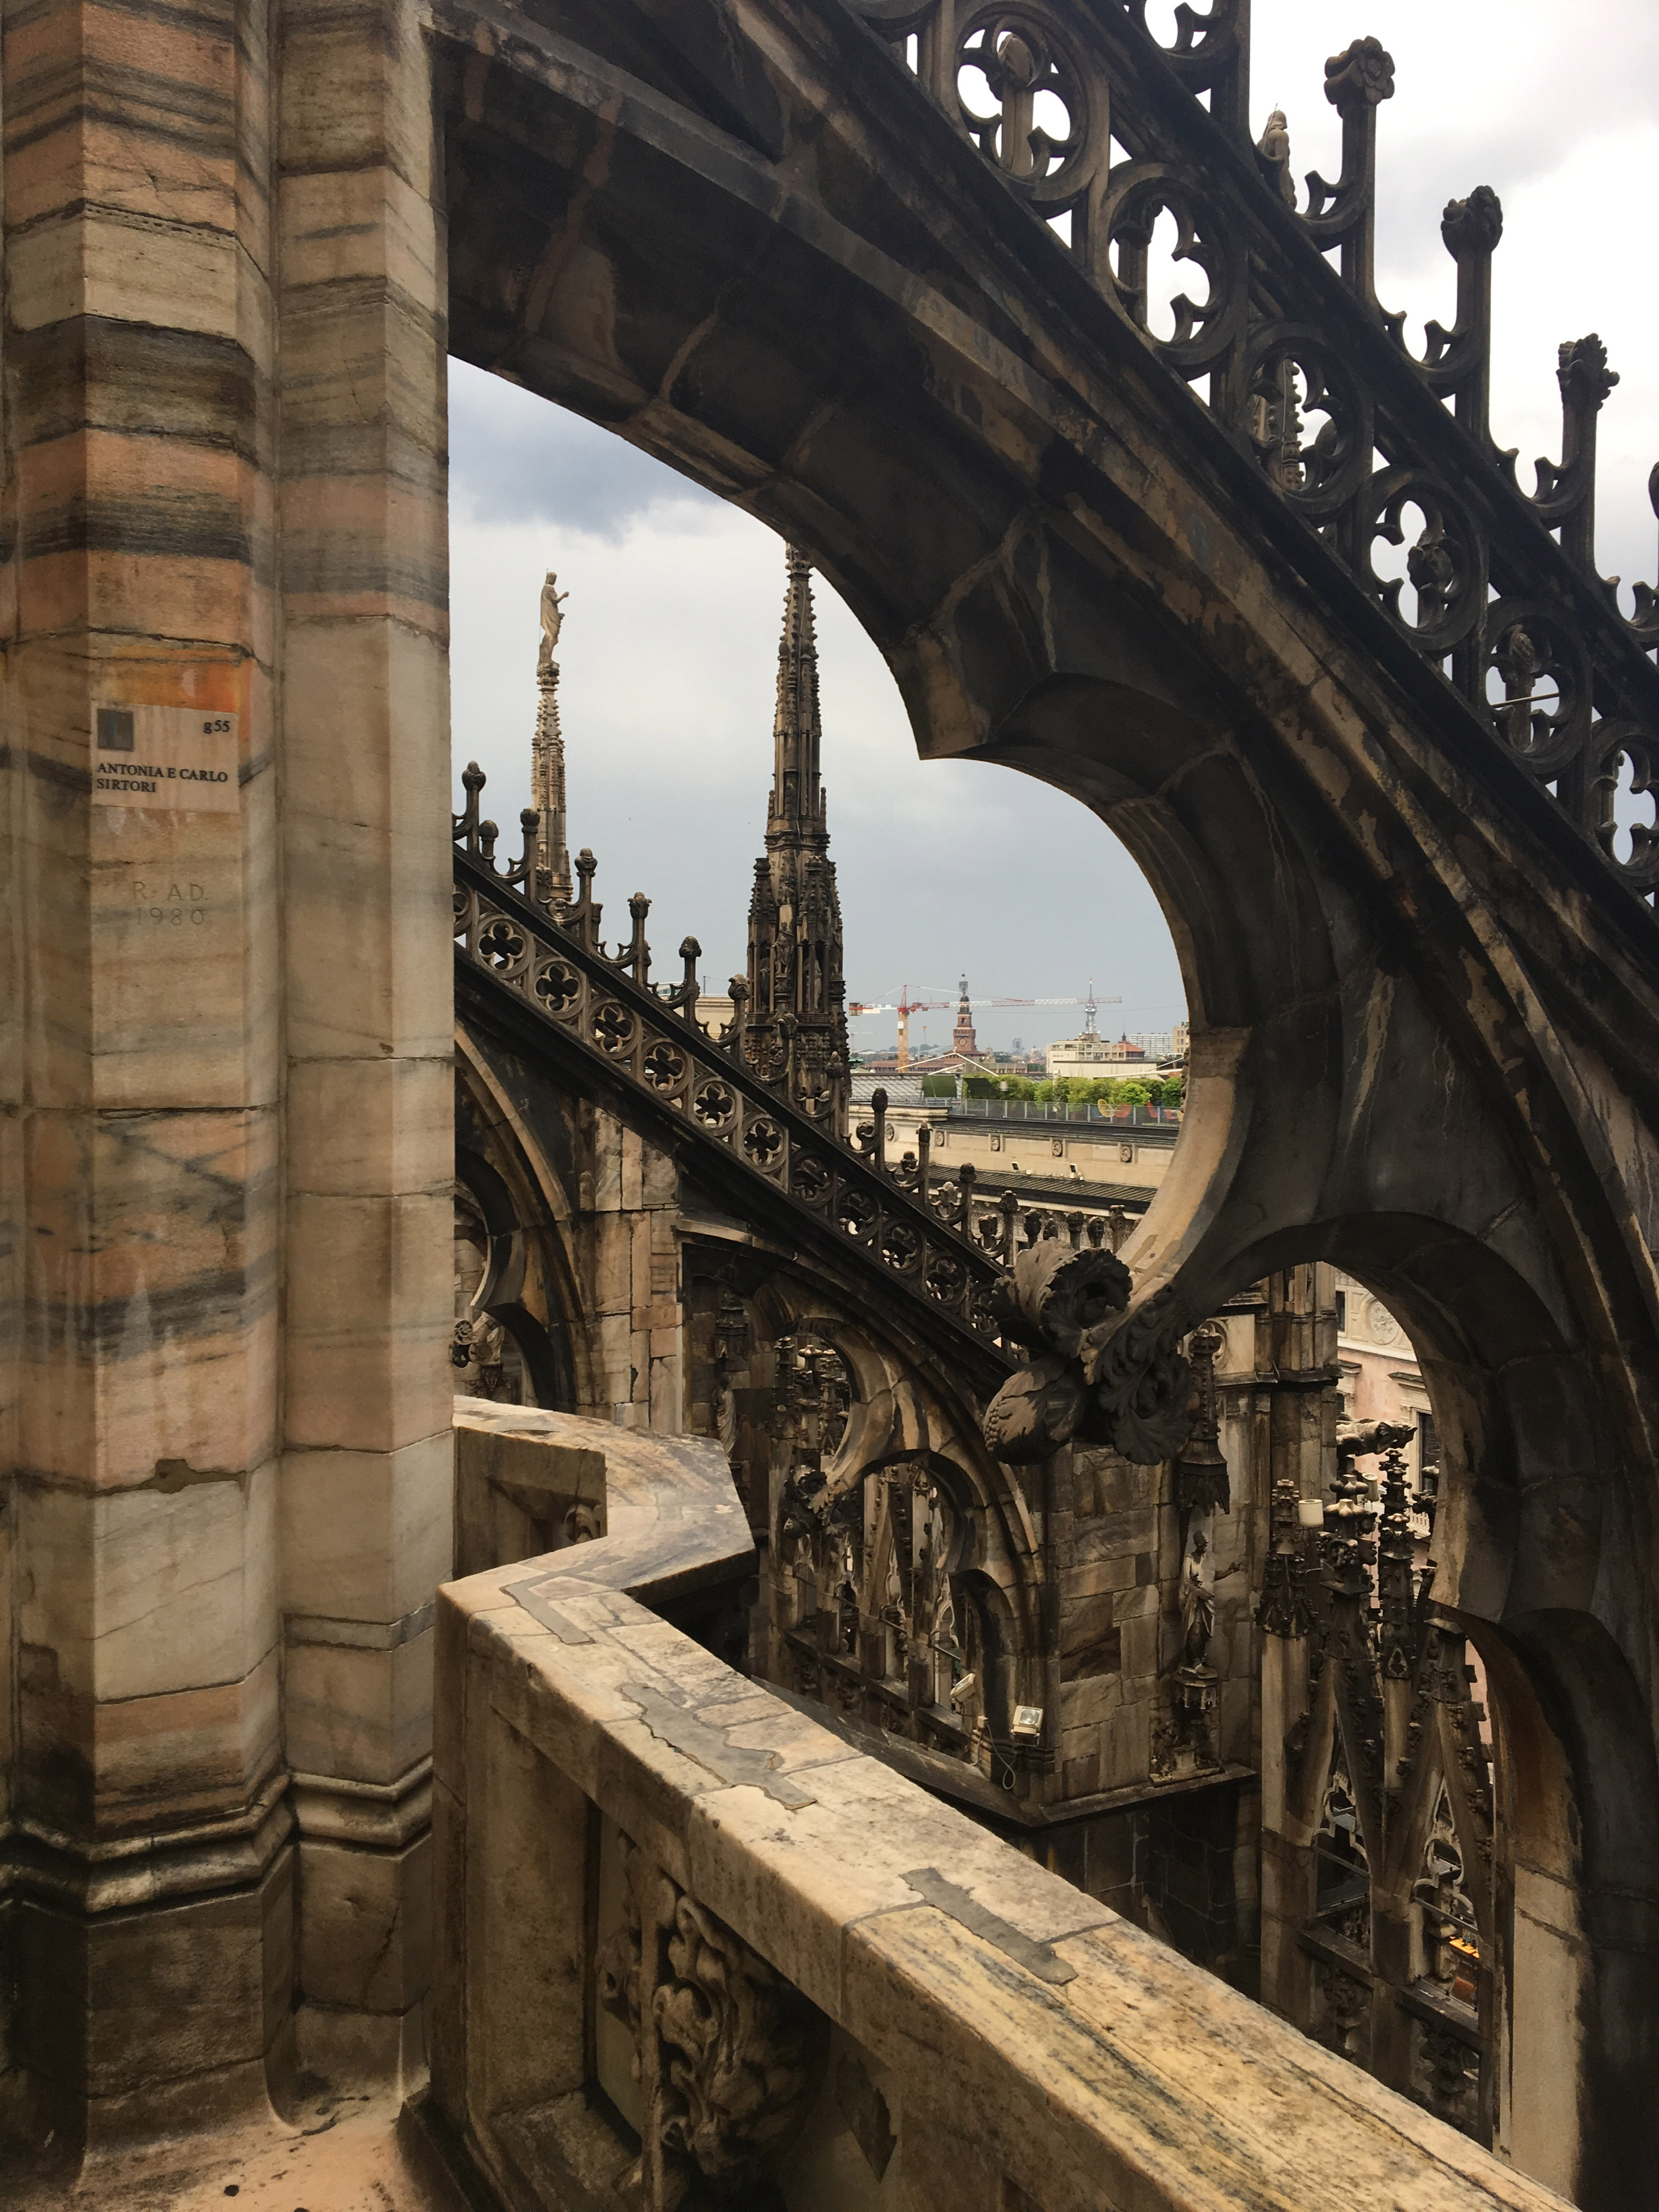
[[[449,1573],[445,259],[414,7],[283,11],[283,1734],[299,2057],[422,2064]]]

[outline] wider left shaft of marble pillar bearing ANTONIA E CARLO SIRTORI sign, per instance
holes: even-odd
[[[290,2006],[270,69],[0,22],[0,2119],[73,2154],[263,2101]]]

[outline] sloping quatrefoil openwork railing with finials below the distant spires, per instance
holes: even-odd
[[[739,1018],[721,1037],[697,1020],[697,938],[679,947],[681,980],[653,984],[650,900],[637,894],[628,900],[633,931],[608,953],[593,898],[593,854],[580,854],[577,896],[555,911],[535,896],[538,814],[520,816],[522,856],[502,867],[500,832],[480,821],[484,774],[476,763],[462,785],[467,805],[453,816],[456,951],[518,993],[560,1037],[597,1053],[655,1106],[681,1117],[695,1137],[721,1146],[878,1261],[896,1283],[989,1343],[1002,1329],[993,1292],[1022,1245],[1051,1237],[1102,1243],[1102,1217],[1022,1208],[1013,1192],[984,1201],[971,1166],[953,1179],[938,1177],[929,1128],[918,1133],[916,1155],[889,1161],[885,1093],[872,1099],[856,1146],[799,1113],[743,1062],[741,982],[732,984]]]

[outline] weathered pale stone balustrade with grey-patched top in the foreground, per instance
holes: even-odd
[[[440,1593],[434,2126],[504,2203],[1562,2203],[666,1619],[750,1566],[717,1444],[462,1422],[606,1458]]]

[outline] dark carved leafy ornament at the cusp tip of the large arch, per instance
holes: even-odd
[[[1190,1427],[1190,1367],[1168,1290],[1124,1321],[1130,1274],[1113,1252],[1044,1239],[998,1287],[998,1325],[1033,1354],[991,1400],[984,1442],[1006,1462],[1044,1460],[1073,1438],[1152,1467]]]

